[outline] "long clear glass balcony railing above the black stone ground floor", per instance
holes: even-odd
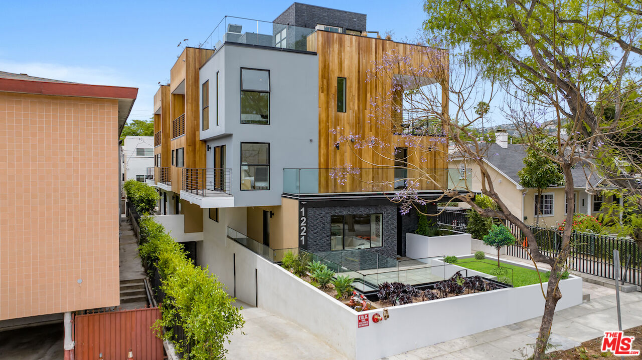
[[[412,184],[417,192],[469,191],[471,173],[458,168],[285,168],[283,193],[392,193]]]

